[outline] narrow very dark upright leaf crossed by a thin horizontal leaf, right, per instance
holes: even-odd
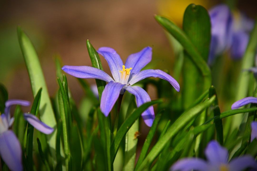
[[[212,97],[213,95],[216,95],[216,97],[217,97],[215,87],[211,86],[209,89],[209,97]],[[215,106],[215,108],[213,109],[213,114],[214,114],[214,116],[219,117],[221,115],[221,110],[219,109],[219,106],[218,106],[218,98],[216,98],[214,105],[217,105],[217,106]],[[219,142],[219,144],[223,145],[224,140],[223,140],[222,120],[214,119],[214,122],[215,122],[215,128],[216,128],[216,133],[217,133],[217,141]]]

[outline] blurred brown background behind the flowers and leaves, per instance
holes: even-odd
[[[190,3],[209,9],[221,1],[1,1],[0,82],[7,87],[9,98],[32,101],[16,34],[17,25],[31,38],[38,52],[51,96],[57,90],[54,56],[60,55],[63,65],[90,66],[87,39],[96,49],[102,46],[114,48],[124,62],[131,53],[151,46],[151,67],[172,70],[172,49],[153,15],[168,16],[181,26],[183,11]],[[233,6],[235,1],[227,3]],[[237,7],[249,17],[256,14],[256,1],[238,1]],[[101,59],[105,71],[110,73],[106,61]],[[93,79],[88,81],[94,83]],[[68,83],[78,102],[82,89],[74,77],[68,76]]]

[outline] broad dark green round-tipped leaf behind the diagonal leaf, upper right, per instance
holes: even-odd
[[[200,5],[187,6],[183,17],[183,30],[204,61],[208,60],[210,44],[210,17]],[[210,85],[209,85],[210,86]],[[186,52],[183,66],[183,104],[187,109],[203,92],[201,71]]]

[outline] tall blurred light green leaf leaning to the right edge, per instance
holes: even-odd
[[[250,39],[243,56],[243,63],[241,66],[241,71],[244,69],[249,69],[254,66],[255,54],[257,49],[257,20],[255,20],[255,25],[250,35]],[[247,97],[247,91],[249,88],[250,74],[249,72],[240,72],[237,84],[236,98],[235,101]],[[235,115],[231,117],[232,129],[239,128],[242,122],[243,114]]]

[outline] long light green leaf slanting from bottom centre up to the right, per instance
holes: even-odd
[[[166,134],[153,146],[149,154],[146,156],[142,164],[136,170],[142,170],[151,164],[154,159],[161,153],[164,146],[170,141],[170,139],[175,136],[180,129],[182,129],[191,119],[196,117],[200,112],[209,107],[215,100],[215,96],[210,99],[207,99],[205,102],[195,106],[194,108],[184,112],[181,116],[169,127]]]

